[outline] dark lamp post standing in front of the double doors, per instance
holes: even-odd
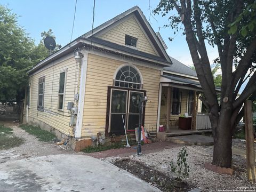
[[[144,97],[141,97],[140,95],[137,95],[137,97],[132,96],[132,102],[135,107],[139,107],[139,129],[138,129],[138,147],[137,147],[137,155],[141,155],[141,143],[140,143],[140,138],[141,138],[141,126],[142,126],[142,109],[144,106],[146,106],[146,102],[148,100],[147,95]]]

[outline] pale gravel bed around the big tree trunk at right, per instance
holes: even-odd
[[[143,154],[142,156],[131,155],[129,158],[139,161],[151,169],[161,171],[162,173],[173,178],[170,162],[173,159],[176,162],[177,154],[181,147],[164,149],[157,153]],[[189,178],[187,179],[190,185],[196,186],[202,191],[245,191],[242,189],[251,189],[256,191],[255,185],[247,182],[246,176],[246,160],[245,158],[233,155],[234,175],[221,175],[204,168],[205,162],[212,161],[213,150],[202,146],[188,146],[188,165]],[[126,157],[127,158],[127,157]],[[115,162],[118,157],[104,158],[102,160]]]

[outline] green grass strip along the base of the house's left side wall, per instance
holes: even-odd
[[[36,136],[36,138],[39,139],[39,141],[45,141],[49,142],[56,138],[56,135],[53,133],[50,133],[49,131],[45,131],[40,129],[40,127],[32,126],[32,125],[20,125],[21,129],[25,130],[29,134],[33,134]]]

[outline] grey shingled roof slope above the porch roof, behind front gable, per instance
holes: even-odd
[[[170,57],[170,59],[172,60],[172,65],[170,67],[164,67],[164,70],[172,71],[172,72],[184,74],[184,75],[190,75],[190,76],[194,76],[197,78],[196,71],[194,71],[190,67],[184,65],[177,59],[174,59],[172,57]]]

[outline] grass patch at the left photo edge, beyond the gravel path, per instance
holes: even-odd
[[[12,134],[10,127],[0,125],[0,149],[10,149],[24,143],[23,138],[15,137]]]

